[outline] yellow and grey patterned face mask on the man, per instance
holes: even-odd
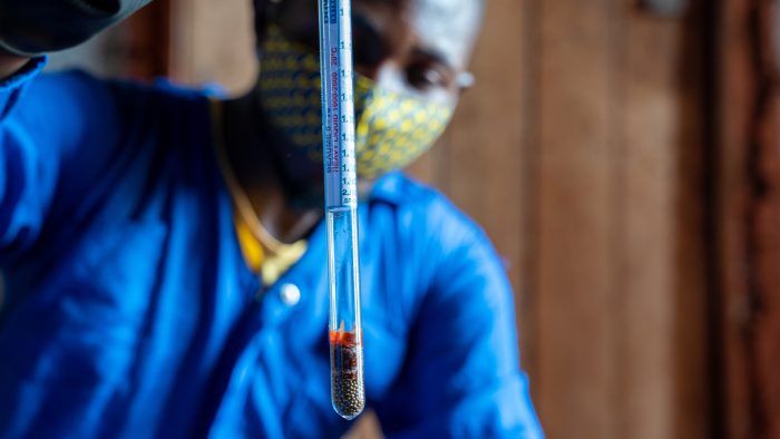
[[[260,94],[272,120],[313,160],[322,162],[320,62],[275,27],[261,47]],[[383,90],[355,75],[358,175],[374,178],[413,162],[447,127],[452,108]]]

